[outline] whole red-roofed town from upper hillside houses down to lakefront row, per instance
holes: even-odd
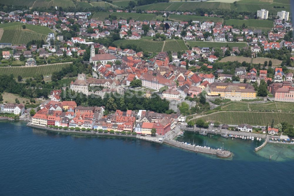
[[[0,43],[6,76],[10,75],[7,71],[11,68],[34,69],[70,63],[48,74],[49,82],[69,79],[63,87],[54,83],[50,93],[45,92],[48,86],[43,73],[38,73],[41,74],[38,82],[32,82],[36,80],[34,75],[23,77],[14,72],[12,78],[17,79],[17,85],[24,85],[22,87],[33,92],[44,90],[39,97],[37,93],[22,96],[46,101],[40,102],[38,107],[30,107],[33,108],[30,111],[24,102],[2,102],[1,115],[14,114],[43,127],[164,135],[176,124],[184,124],[188,115],[221,106],[215,104],[215,100],[294,102],[294,41],[289,12],[281,10],[268,18],[268,10],[256,10],[254,18],[242,16],[244,23],[239,26],[215,21],[219,18],[216,14],[204,14],[204,21],[176,21],[167,16],[195,13],[143,12],[162,14],[164,18],[138,20],[109,15],[95,19],[91,12],[58,9],[0,12],[2,38],[7,29],[14,27],[24,32],[38,31],[34,29],[41,27],[50,30],[46,39],[32,39],[26,44]],[[273,27],[269,31],[251,28],[246,26],[246,20],[271,21]],[[77,69],[72,70],[73,67]],[[130,91],[140,92],[143,98],[137,99],[146,102],[155,96],[160,99],[158,102],[166,103],[167,108],[156,112],[155,108],[140,108],[139,104],[124,105],[125,97],[121,102],[109,98],[117,94],[124,96]],[[82,98],[69,99],[69,92],[79,93]],[[67,94],[66,98],[62,93]],[[107,102],[85,105],[93,96],[95,100],[99,97],[99,101]],[[186,111],[185,104],[188,105]],[[226,130],[227,125],[223,124],[221,128]],[[276,130],[267,127],[266,131],[278,134]],[[241,124],[238,131],[252,132],[252,126]]]

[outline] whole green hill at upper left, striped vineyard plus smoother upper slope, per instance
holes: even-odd
[[[48,33],[53,32],[46,26],[29,24],[26,24],[26,29],[23,29],[21,23],[3,24],[0,25],[0,28],[1,27],[3,27],[3,34],[0,42],[12,44],[26,44],[33,39],[45,40]]]

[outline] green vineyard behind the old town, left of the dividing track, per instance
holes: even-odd
[[[145,51],[146,52],[161,52],[161,49],[163,47],[163,41],[153,41],[153,40],[146,40],[146,39],[139,39],[139,40],[123,39],[123,40],[116,40],[113,43],[116,44],[117,46],[136,45],[138,47],[141,47],[144,52]]]

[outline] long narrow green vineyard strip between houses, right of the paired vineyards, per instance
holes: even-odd
[[[217,48],[220,48],[220,47],[223,47],[223,46],[226,46],[228,44],[229,47],[245,47],[247,46],[246,43],[241,43],[241,42],[211,42],[211,41],[186,41],[186,43],[189,45],[189,46],[192,46],[192,47],[217,47]]]

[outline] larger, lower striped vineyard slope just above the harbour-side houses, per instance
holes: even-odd
[[[282,112],[231,112],[223,111],[208,114],[202,117],[204,121],[218,121],[223,124],[250,124],[250,125],[270,125],[272,119],[275,123],[288,122],[293,124],[294,113]],[[193,120],[196,122],[196,119]]]

